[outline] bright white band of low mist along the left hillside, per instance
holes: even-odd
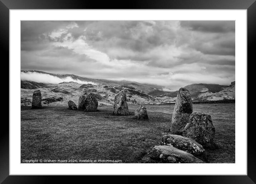
[[[72,77],[56,77],[45,73],[37,73],[37,72],[20,72],[21,81],[33,81],[45,84],[58,84],[61,82],[77,82],[79,84],[92,84],[97,85],[97,83],[90,81],[81,81],[77,79],[73,79]]]

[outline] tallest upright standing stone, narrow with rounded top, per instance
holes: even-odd
[[[180,88],[175,102],[171,133],[182,135],[183,129],[189,121],[189,116],[193,112],[192,99],[186,88]]]

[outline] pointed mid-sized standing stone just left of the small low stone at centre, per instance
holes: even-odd
[[[126,93],[123,90],[115,96],[113,114],[117,116],[129,115],[128,105],[126,102]]]

